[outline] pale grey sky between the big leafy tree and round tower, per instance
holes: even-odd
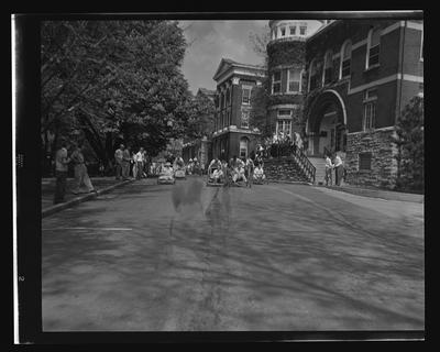
[[[316,21],[309,28],[316,29]],[[179,21],[187,43],[183,73],[188,80],[189,89],[197,94],[199,88],[215,90],[212,79],[220,61],[231,58],[242,64],[262,65],[264,58],[253,50],[252,34],[262,35],[270,32],[268,20],[263,21]]]

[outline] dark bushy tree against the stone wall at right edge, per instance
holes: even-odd
[[[396,188],[422,191],[425,186],[424,98],[414,97],[396,124],[397,146]]]

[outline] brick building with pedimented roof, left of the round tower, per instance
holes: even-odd
[[[261,85],[265,67],[244,65],[222,58],[213,76],[217,81],[212,157],[246,157],[253,151],[260,131],[250,125],[252,88]]]

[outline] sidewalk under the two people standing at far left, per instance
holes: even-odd
[[[122,185],[129,184],[134,179],[129,179],[125,182],[117,180],[114,177],[92,177],[91,184],[94,185],[95,189],[99,194],[107,193],[112,190],[116,187],[120,187]],[[48,216],[53,212],[63,210],[72,205],[79,204],[81,201],[91,199],[96,197],[94,193],[88,194],[78,194],[74,195],[72,189],[74,187],[74,178],[67,178],[67,187],[66,187],[66,195],[64,197],[64,202],[54,205],[54,191],[55,191],[55,178],[42,178],[42,216]]]

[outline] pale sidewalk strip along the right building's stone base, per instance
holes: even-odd
[[[425,195],[406,194],[406,193],[384,190],[384,189],[361,188],[348,184],[343,184],[339,187],[338,186],[328,186],[328,187],[317,186],[317,187],[324,187],[333,190],[345,191],[356,196],[381,198],[385,200],[399,200],[399,201],[410,201],[410,202],[421,202],[421,204],[425,201]]]

